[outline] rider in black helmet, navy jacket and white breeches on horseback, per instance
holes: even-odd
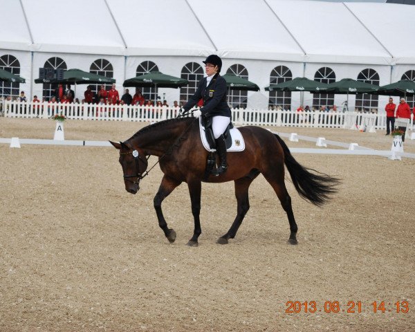
[[[223,133],[230,124],[230,108],[226,101],[226,81],[219,75],[222,68],[222,60],[217,55],[209,55],[205,61],[205,71],[208,77],[203,77],[199,82],[196,93],[185,104],[183,109],[189,111],[203,98],[203,107],[200,109],[202,116],[212,118],[212,130],[216,140],[216,151],[219,156],[219,166],[212,175],[218,176],[226,172],[226,143]]]

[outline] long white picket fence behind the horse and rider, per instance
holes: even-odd
[[[51,118],[62,113],[73,120],[118,120],[157,122],[175,118],[178,108],[140,107],[127,105],[60,104],[50,102],[11,102],[1,105],[7,118]],[[386,129],[386,114],[357,112],[321,112],[232,109],[232,121],[237,125],[265,125],[277,127],[315,127],[360,129],[374,132]],[[414,119],[409,130],[414,129]]]

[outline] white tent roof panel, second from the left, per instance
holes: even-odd
[[[104,0],[22,0],[22,3],[33,35],[33,50],[124,53],[122,37]]]

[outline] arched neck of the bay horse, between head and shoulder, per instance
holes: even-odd
[[[194,119],[192,119],[194,120]],[[149,127],[129,139],[131,144],[140,147],[146,155],[162,156],[167,149],[191,125],[190,120],[160,122],[157,126]]]

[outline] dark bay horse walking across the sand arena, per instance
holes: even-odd
[[[208,151],[203,147],[199,119],[175,118],[156,122],[140,129],[124,142],[111,142],[120,150],[120,164],[124,173],[125,190],[136,194],[140,180],[148,174],[148,156],[158,156],[158,163],[164,176],[154,197],[154,208],[158,225],[170,243],[176,239],[176,232],[167,227],[161,203],[182,182],[187,183],[194,216],[194,233],[189,246],[198,246],[201,234],[199,214],[201,210],[201,183],[223,183],[234,181],[237,197],[237,216],[230,229],[217,243],[226,244],[233,239],[248,212],[250,205],[248,188],[252,181],[262,174],[270,183],[284,208],[290,223],[288,243],[297,244],[297,224],[295,223],[291,197],[284,183],[284,163],[291,175],[293,185],[302,198],[322,205],[336,192],[339,180],[326,174],[303,167],[292,156],[285,142],[277,134],[261,127],[240,127],[245,140],[245,150],[228,152],[228,171],[220,176],[205,179],[205,166]],[[147,158],[146,158],[147,157]]]

